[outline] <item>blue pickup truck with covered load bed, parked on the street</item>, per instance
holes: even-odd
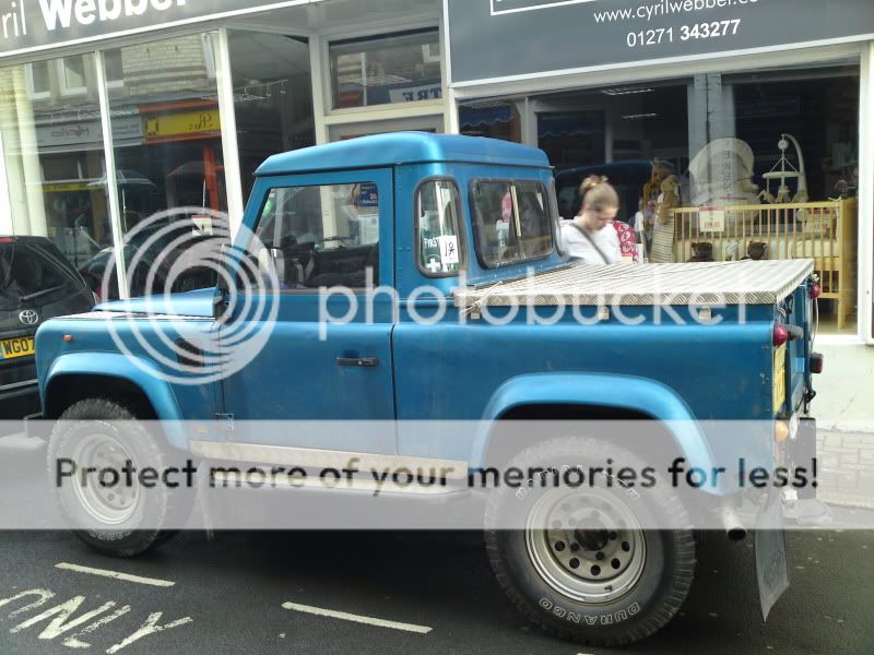
[[[546,156],[487,139],[375,135],[273,156],[256,177],[216,288],[106,302],[39,329],[42,413],[58,421],[50,466],[169,452],[361,471],[448,463],[464,475],[524,464],[543,479],[605,457],[641,471],[660,458],[652,481],[677,462],[810,466],[813,262],[570,266]],[[145,419],[160,433],[110,428]],[[361,430],[243,427],[287,420]],[[479,427],[409,429],[426,420]],[[398,427],[366,430],[373,421]],[[649,429],[607,436],[593,421]],[[753,427],[731,438],[706,427],[732,421]],[[498,439],[497,426],[523,428]],[[522,477],[485,492],[497,579],[536,624],[592,644],[666,623],[694,577],[695,512],[743,536],[736,508],[751,498],[720,481],[700,485],[692,508],[671,485],[611,485],[601,469],[607,484],[578,510],[575,489],[540,493]],[[133,556],[170,535],[170,495],[75,479],[58,501],[73,523],[90,519],[78,534],[92,547]],[[779,565],[780,549],[763,565]]]

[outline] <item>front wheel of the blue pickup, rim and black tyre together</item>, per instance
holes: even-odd
[[[70,406],[55,427],[48,445],[48,474],[55,500],[74,534],[93,549],[115,557],[143,553],[170,538],[190,511],[191,490],[163,485],[103,486],[82,471],[152,467],[166,471],[169,462],[163,440],[137,421],[135,413],[108,398],[88,398]],[[74,475],[58,483],[59,461],[76,466]],[[69,467],[69,465],[68,465]]]

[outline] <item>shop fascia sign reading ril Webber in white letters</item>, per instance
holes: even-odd
[[[288,0],[273,7],[321,0]],[[268,0],[0,0],[0,57],[46,46],[258,11]]]

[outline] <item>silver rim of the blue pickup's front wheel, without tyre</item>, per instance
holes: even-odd
[[[76,443],[72,460],[78,471],[71,481],[82,509],[106,525],[128,521],[140,501],[137,476],[131,476],[131,485],[126,479],[126,465],[132,461],[128,450],[109,434],[86,434]],[[101,472],[110,471],[118,474],[117,483],[115,474],[104,473],[102,477]]]

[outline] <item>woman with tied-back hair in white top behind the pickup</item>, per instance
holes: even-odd
[[[570,261],[616,264],[622,261],[616,230],[610,226],[619,211],[619,195],[605,177],[590,176],[580,184],[580,211],[562,225],[562,241]]]

